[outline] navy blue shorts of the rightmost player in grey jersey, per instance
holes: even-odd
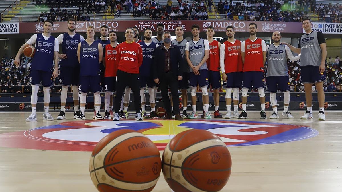
[[[325,81],[325,72],[319,73],[317,66],[304,66],[300,67],[300,82],[301,83],[317,83]]]

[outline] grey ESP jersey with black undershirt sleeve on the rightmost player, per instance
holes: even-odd
[[[312,31],[309,34],[302,35],[298,44],[298,48],[301,49],[301,60],[299,64],[301,67],[320,65],[322,51],[319,44],[321,43],[325,43],[325,40],[323,34],[319,31]]]

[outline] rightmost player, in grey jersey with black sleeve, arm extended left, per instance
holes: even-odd
[[[325,60],[327,57],[327,44],[325,42],[323,33],[320,31],[313,31],[311,29],[311,20],[304,18],[302,27],[305,34],[299,40],[298,48],[293,47],[288,43],[291,51],[301,54],[300,68],[301,68],[301,82],[304,83],[306,112],[301,119],[312,119],[312,85],[316,85],[318,95],[318,120],[325,120],[324,114],[324,88],[325,81]]]

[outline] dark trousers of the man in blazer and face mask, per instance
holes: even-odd
[[[171,114],[171,103],[169,98],[169,88],[173,100],[173,112],[179,114],[179,95],[177,75],[173,72],[164,72],[162,78],[159,79],[159,89],[163,98],[166,113]]]

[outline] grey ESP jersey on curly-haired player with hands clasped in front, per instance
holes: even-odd
[[[205,45],[204,39],[200,38],[197,43],[194,43],[193,40],[189,41],[189,59],[193,66],[197,66],[201,63],[203,57],[205,55]],[[192,69],[190,66],[188,67],[191,71]],[[208,69],[207,63],[204,62],[203,65],[199,68],[201,69]]]

